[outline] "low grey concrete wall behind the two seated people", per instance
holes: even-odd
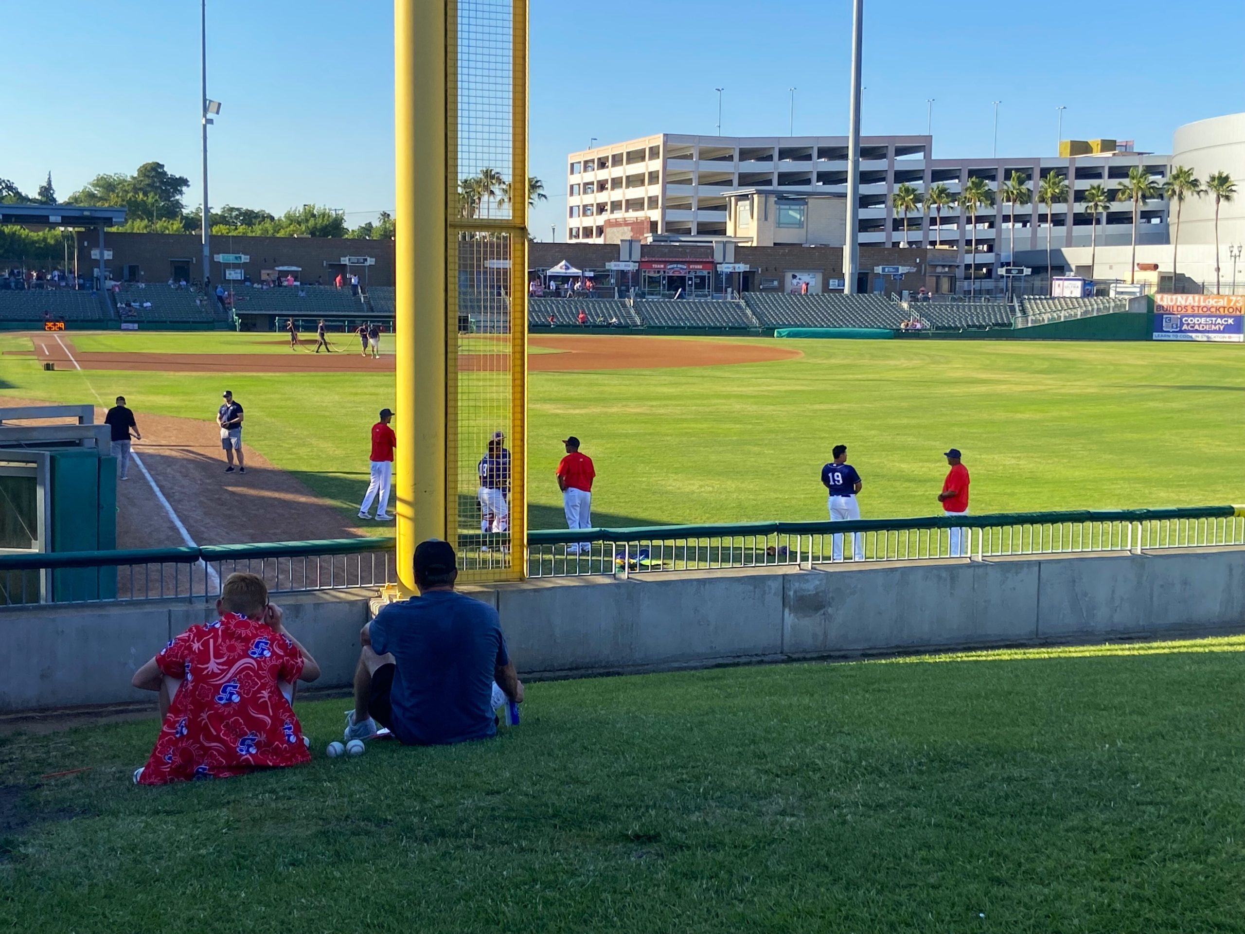
[[[524,675],[1245,631],[1245,548],[571,578],[471,588]],[[281,600],[350,684],[370,592]],[[186,600],[0,610],[0,712],[151,700],[134,670],[214,615]]]

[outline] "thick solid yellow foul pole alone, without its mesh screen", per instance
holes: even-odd
[[[393,0],[397,574],[446,535],[446,0]]]

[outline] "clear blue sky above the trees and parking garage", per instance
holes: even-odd
[[[532,0],[532,218],[565,235],[565,153],[657,132],[847,132],[849,0]],[[197,0],[5,4],[0,177],[66,196],[98,172],[199,174]],[[1245,111],[1245,4],[865,0],[865,133],[925,131],[935,156],[1053,154],[1064,137],[1167,152],[1180,123]],[[351,224],[393,207],[392,4],[209,0],[212,200],[316,202]],[[1134,25],[1137,24],[1137,25]],[[198,203],[195,186],[187,204]]]

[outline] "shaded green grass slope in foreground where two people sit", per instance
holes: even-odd
[[[1238,932],[1245,638],[532,685],[524,721],[138,788],[0,738],[6,930]],[[929,664],[925,664],[929,663]],[[88,767],[77,775],[40,778]]]

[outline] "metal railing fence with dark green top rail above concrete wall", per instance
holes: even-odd
[[[1241,544],[1245,544],[1245,507],[1073,509],[852,522],[533,531],[527,535],[527,572],[529,578],[630,577]],[[234,572],[259,574],[274,594],[381,588],[397,582],[392,538],[118,552],[9,552],[0,554],[0,606],[214,598],[220,593],[220,582]]]

